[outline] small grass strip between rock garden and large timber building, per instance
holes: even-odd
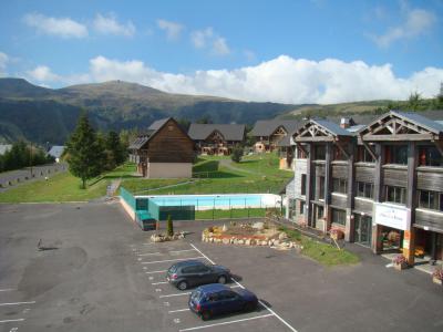
[[[360,261],[359,257],[346,249],[338,249],[328,243],[319,242],[307,236],[301,235],[298,230],[280,227],[291,240],[297,241],[303,246],[301,253],[312,258],[319,263],[328,267],[339,264],[354,264]]]

